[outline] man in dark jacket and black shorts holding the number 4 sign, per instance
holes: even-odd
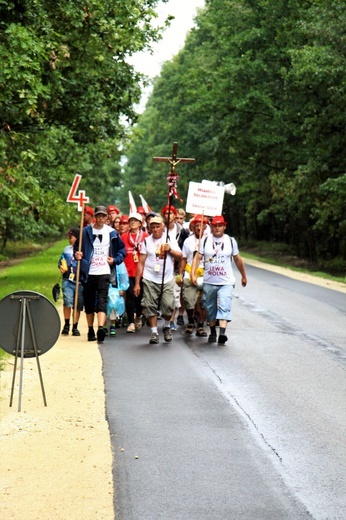
[[[95,223],[83,229],[82,247],[74,245],[74,255],[80,260],[85,313],[88,322],[88,341],[95,341],[94,318],[97,315],[97,341],[105,338],[108,288],[111,275],[125,258],[125,246],[115,229],[106,224],[106,206],[96,206]],[[95,303],[96,302],[96,303]]]

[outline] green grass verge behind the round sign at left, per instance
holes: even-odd
[[[66,239],[61,240],[16,265],[0,269],[0,300],[15,291],[27,290],[43,294],[55,304],[52,287],[59,280],[61,283],[58,260],[67,245]],[[4,355],[0,348],[0,366]]]

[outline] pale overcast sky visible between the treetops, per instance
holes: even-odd
[[[169,0],[167,4],[161,4],[157,8],[157,25],[163,25],[168,15],[173,15],[175,19],[165,30],[162,40],[153,46],[153,54],[140,52],[131,58],[131,63],[139,72],[150,78],[160,74],[162,64],[172,59],[184,47],[186,34],[194,25],[193,18],[199,7],[204,7],[204,0]],[[144,109],[150,90],[143,92],[140,111]]]

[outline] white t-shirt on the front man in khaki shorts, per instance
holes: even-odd
[[[166,243],[166,234],[161,238],[155,239],[149,235],[141,246],[141,254],[147,255],[144,264],[143,278],[154,283],[162,283],[164,258],[160,258],[161,244]],[[170,238],[169,244],[173,251],[180,251],[175,238]],[[165,275],[163,283],[170,282],[174,276],[174,260],[167,252]]]

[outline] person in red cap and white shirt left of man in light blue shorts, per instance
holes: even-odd
[[[207,333],[204,330],[205,310],[200,306],[200,288],[191,282],[191,266],[196,251],[199,250],[200,237],[207,226],[208,219],[203,215],[196,215],[191,222],[193,235],[190,235],[183,245],[183,259],[179,265],[179,274],[177,280],[183,283],[182,299],[186,309],[188,324],[185,329],[185,334],[191,335],[195,328],[195,316],[197,316],[197,331],[196,336],[206,337]],[[202,238],[203,240],[203,238]],[[204,267],[201,260],[197,267],[197,279],[203,277]],[[179,324],[179,323],[178,323]]]

